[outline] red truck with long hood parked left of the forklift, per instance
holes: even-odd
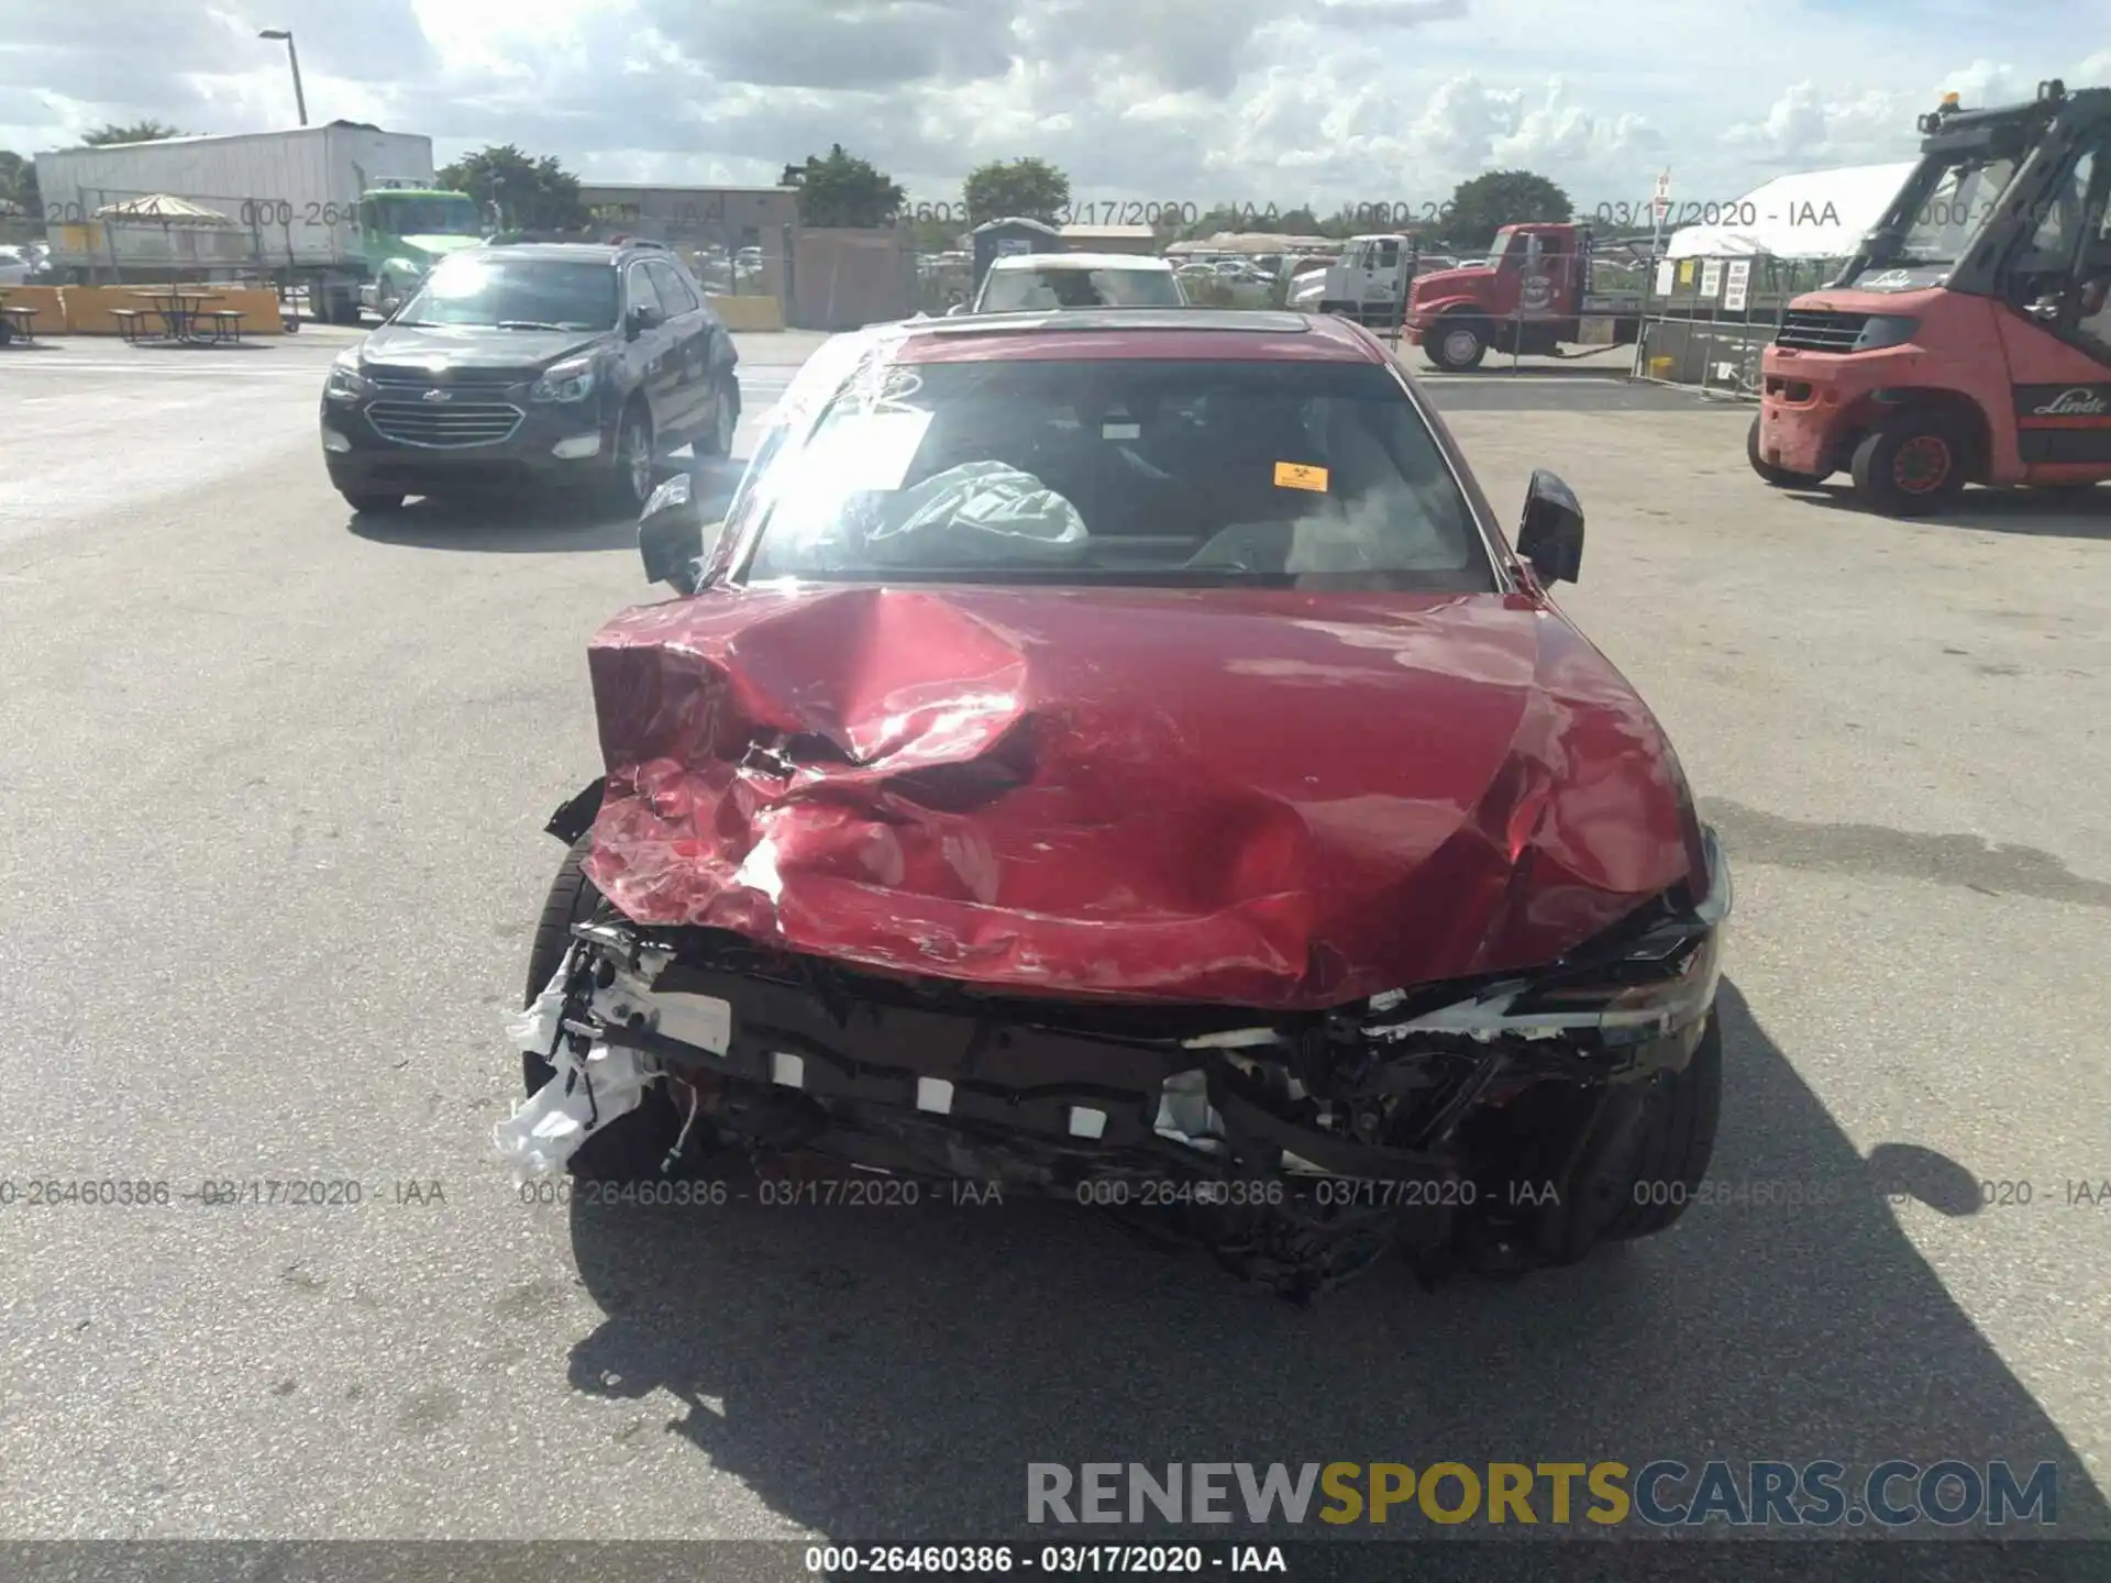
[[[1402,333],[1448,371],[1480,365],[1490,348],[1549,357],[1564,346],[1632,346],[1647,264],[1642,249],[1600,243],[1587,226],[1503,226],[1486,262],[1414,281]]]

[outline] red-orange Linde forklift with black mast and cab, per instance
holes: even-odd
[[[1894,517],[1965,483],[2111,479],[2111,89],[1921,116],[1921,165],[1761,359],[1746,437],[1780,490],[1849,473]]]

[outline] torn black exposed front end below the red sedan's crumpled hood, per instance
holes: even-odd
[[[1562,962],[1296,1015],[996,996],[606,916],[513,1024],[557,1079],[498,1144],[562,1169],[665,1083],[676,1155],[1159,1205],[1292,1294],[1387,1250],[1425,1277],[1568,1262],[1632,1193],[1649,1108],[1706,1030],[1731,905],[1714,832],[1706,851],[1706,895]]]

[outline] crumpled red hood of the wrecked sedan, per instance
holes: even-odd
[[[1655,720],[1520,597],[722,591],[589,659],[593,882],[868,969],[1317,1009],[1552,960],[1699,861]]]

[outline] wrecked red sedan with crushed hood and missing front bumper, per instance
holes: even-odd
[[[1729,872],[1657,720],[1338,319],[830,342],[673,599],[589,652],[604,779],[515,1019],[521,1171],[798,1152],[1148,1209],[1307,1298],[1670,1226]]]

